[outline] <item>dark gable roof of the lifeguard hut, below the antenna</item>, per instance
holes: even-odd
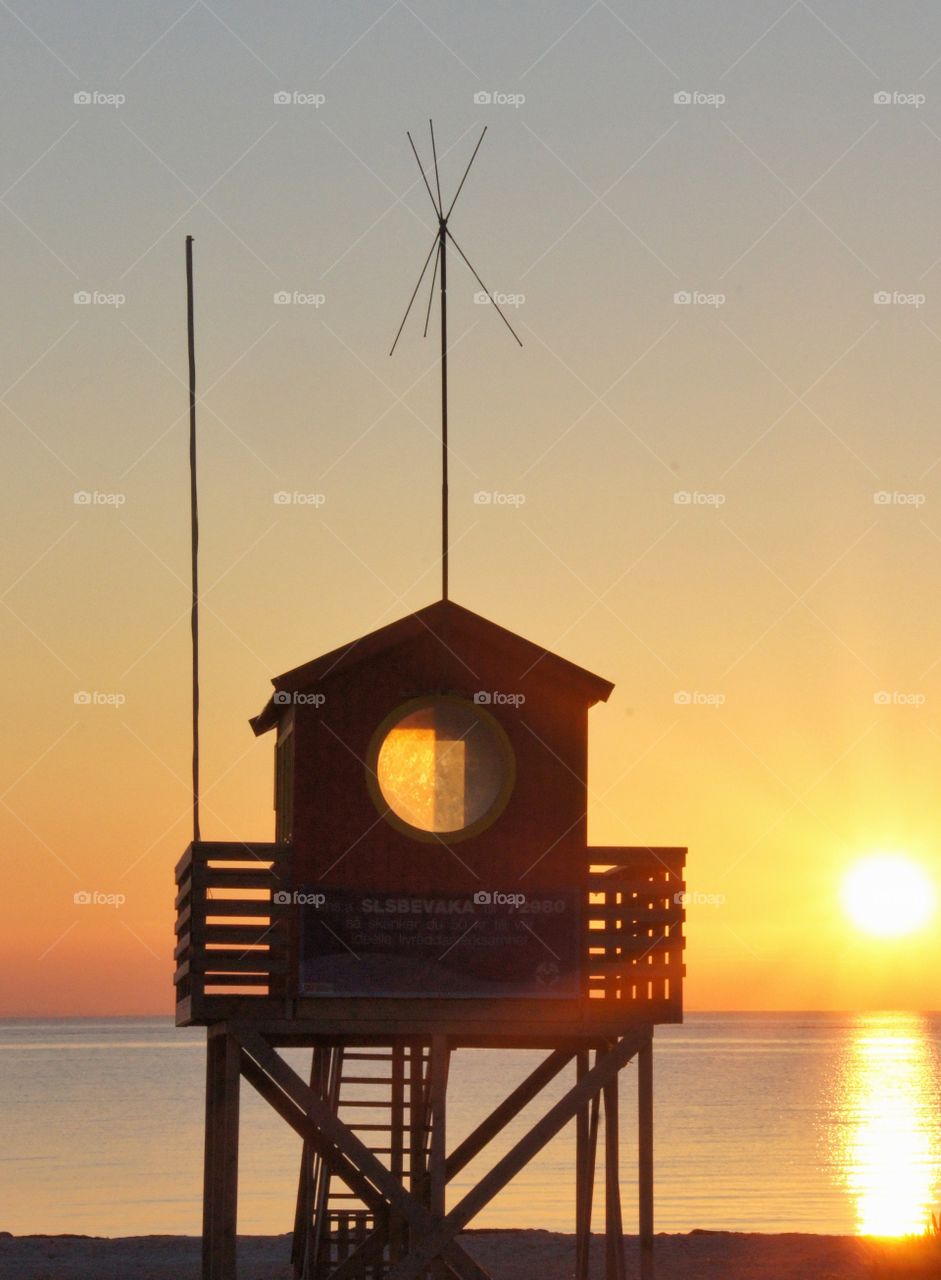
[[[574,687],[580,686],[589,705],[598,701],[607,701],[615,687],[611,681],[602,680],[600,676],[585,671],[584,667],[579,667],[566,658],[559,658],[558,654],[551,653],[531,640],[525,640],[522,636],[516,635],[515,631],[508,631],[506,627],[490,622],[489,618],[484,618],[471,609],[465,609],[453,600],[435,600],[434,604],[428,604],[416,613],[410,613],[405,618],[379,627],[378,631],[370,631],[369,635],[341,645],[339,649],[333,649],[320,658],[314,658],[301,667],[294,667],[292,671],[286,671],[283,675],[275,676],[271,680],[275,694],[271,695],[264,710],[250,721],[251,727],[257,735],[265,733],[278,723],[283,710],[282,704],[275,701],[278,692],[297,692],[298,690],[309,689],[326,676],[333,676],[360,663],[369,662],[371,658],[389,649],[398,648],[398,645],[406,644],[408,640],[415,640],[425,635],[440,639],[439,634],[446,626],[451,631],[454,628],[460,630],[470,640],[480,640],[492,646],[507,650],[512,649],[515,653],[522,655],[525,660],[544,664],[544,669],[552,672],[561,682]],[[444,640],[440,643],[444,645]]]

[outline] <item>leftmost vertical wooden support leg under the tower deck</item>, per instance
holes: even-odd
[[[236,1280],[239,1047],[224,1030],[206,1046],[202,1280]]]

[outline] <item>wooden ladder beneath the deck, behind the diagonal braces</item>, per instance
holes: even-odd
[[[428,1044],[420,1041],[315,1048],[310,1076],[311,1089],[421,1198],[430,1146],[428,1064]],[[291,1254],[296,1280],[325,1280],[375,1226],[374,1211],[305,1143]],[[364,1280],[383,1280],[405,1251],[403,1224],[390,1221],[389,1239],[383,1260],[361,1272]]]

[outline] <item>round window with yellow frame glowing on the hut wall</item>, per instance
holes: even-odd
[[[503,810],[513,786],[510,741],[462,698],[419,698],[380,724],[370,750],[380,812],[410,836],[474,836]]]

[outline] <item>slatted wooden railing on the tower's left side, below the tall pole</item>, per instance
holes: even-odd
[[[288,972],[280,845],[192,844],[177,864],[177,1004],[280,996]]]

